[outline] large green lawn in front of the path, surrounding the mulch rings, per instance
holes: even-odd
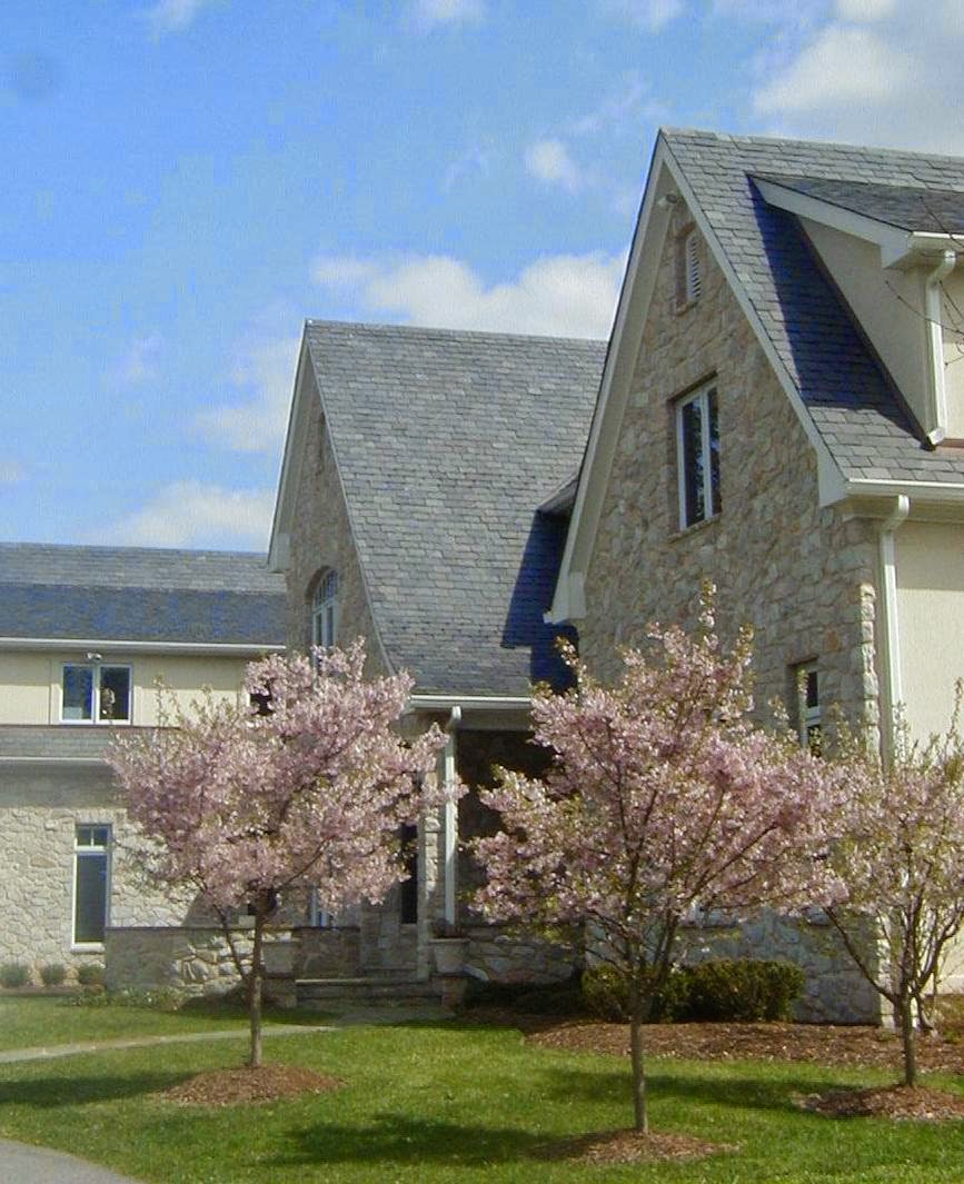
[[[798,1092],[886,1074],[789,1063],[651,1063],[654,1127],[738,1144],[733,1154],[651,1167],[545,1163],[533,1154],[546,1143],[628,1125],[628,1066],[531,1048],[512,1029],[410,1024],[279,1036],[266,1045],[270,1060],[334,1074],[345,1087],[220,1111],[154,1096],[200,1069],[238,1064],[243,1051],[239,1036],[0,1066],[0,1135],[159,1184],[950,1184],[964,1175],[964,1124],[829,1120],[792,1105]]]

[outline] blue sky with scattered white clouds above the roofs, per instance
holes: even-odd
[[[661,123],[964,153],[963,11],[8,0],[0,538],[263,548],[304,317],[604,336]]]

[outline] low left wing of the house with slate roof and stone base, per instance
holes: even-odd
[[[116,857],[130,830],[103,752],[158,722],[156,678],[185,708],[205,686],[237,696],[283,619],[264,555],[0,545],[0,964],[76,970],[114,934],[198,920]]]

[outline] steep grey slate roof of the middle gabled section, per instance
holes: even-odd
[[[525,695],[605,342],[309,321],[375,626],[417,690]]]

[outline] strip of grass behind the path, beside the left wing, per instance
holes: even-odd
[[[265,1023],[324,1023],[315,1012],[265,1011]],[[179,1012],[159,1008],[77,1006],[69,998],[0,998],[0,1050],[36,1044],[73,1044],[126,1036],[171,1036],[179,1032],[248,1028],[248,1014],[226,1003],[199,1002]]]

